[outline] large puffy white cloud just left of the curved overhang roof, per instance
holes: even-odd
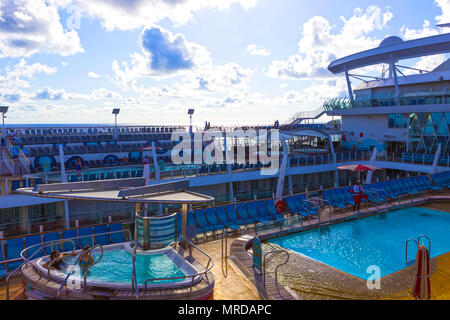
[[[331,61],[376,47],[381,40],[369,34],[381,30],[392,17],[388,9],[377,6],[369,6],[365,12],[356,8],[349,19],[340,17],[343,26],[337,33],[332,32],[335,27],[326,18],[312,17],[303,24],[298,54],[273,61],[267,75],[282,79],[331,77],[327,70]]]

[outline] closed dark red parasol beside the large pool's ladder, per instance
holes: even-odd
[[[417,249],[412,294],[417,300],[430,299],[430,255],[424,245]]]

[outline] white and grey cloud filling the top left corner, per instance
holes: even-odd
[[[68,56],[83,52],[83,48],[78,33],[62,26],[53,1],[0,2],[0,58],[37,52]]]

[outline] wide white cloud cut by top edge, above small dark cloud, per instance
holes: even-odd
[[[185,24],[200,10],[225,10],[239,4],[244,10],[257,0],[74,0],[85,15],[98,18],[107,30],[131,30],[156,24],[167,18]]]

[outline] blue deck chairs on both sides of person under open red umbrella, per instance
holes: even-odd
[[[364,190],[372,191],[366,192],[369,201],[376,203],[377,201],[386,202],[388,200],[396,200],[404,195],[414,195],[423,191],[441,190],[442,187],[432,185],[426,176],[407,177],[396,180],[389,180],[384,182],[377,182],[364,185]],[[353,194],[350,192],[351,187],[335,188],[322,191],[322,196],[331,205],[339,209],[353,206]]]

